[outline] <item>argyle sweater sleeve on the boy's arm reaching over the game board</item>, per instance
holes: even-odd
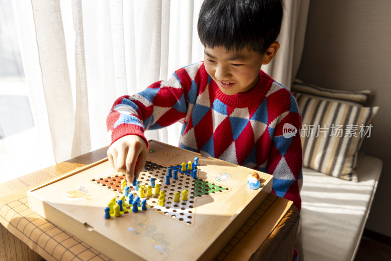
[[[186,96],[191,85],[187,71],[181,68],[168,81],[158,81],[132,96],[119,97],[106,121],[111,144],[134,134],[142,137],[148,146],[145,130],[169,126],[186,116]]]

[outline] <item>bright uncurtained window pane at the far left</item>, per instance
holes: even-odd
[[[54,164],[34,123],[11,0],[0,4],[0,183]]]

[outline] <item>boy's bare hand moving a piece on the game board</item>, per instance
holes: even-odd
[[[107,151],[111,166],[126,174],[128,184],[144,169],[147,159],[147,144],[137,135],[127,135],[116,140]]]

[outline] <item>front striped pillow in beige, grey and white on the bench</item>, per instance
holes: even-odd
[[[354,168],[378,107],[353,106],[296,93],[302,115],[303,166],[358,181]]]

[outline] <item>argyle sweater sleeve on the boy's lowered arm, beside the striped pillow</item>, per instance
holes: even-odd
[[[274,130],[267,172],[274,176],[272,193],[293,201],[300,211],[303,184],[301,117],[292,94],[288,108],[279,116]]]

